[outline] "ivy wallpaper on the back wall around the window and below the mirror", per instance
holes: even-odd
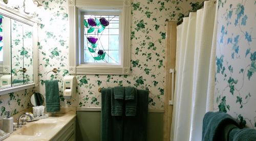
[[[132,1],[131,75],[77,75],[77,95],[66,101],[62,95],[62,77],[69,74],[68,2],[40,1],[44,6],[42,10],[37,11],[37,18],[40,21],[38,28],[40,83],[35,91],[45,95],[46,72],[58,68],[61,106],[100,107],[99,87],[133,86],[138,89],[150,89],[149,108],[163,109],[166,21],[182,18],[189,9],[196,8],[201,2],[202,0]],[[54,74],[49,73],[47,79],[52,78]],[[25,101],[29,100],[29,94],[25,95],[24,92],[14,95]],[[17,103],[11,95],[2,97],[12,105]],[[6,106],[8,107],[8,104],[3,108]],[[27,108],[27,104],[23,107],[18,104],[13,107],[16,111],[24,108]]]

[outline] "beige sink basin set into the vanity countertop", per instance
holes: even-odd
[[[57,126],[57,123],[34,123],[22,127],[22,130],[18,131],[19,135],[29,136],[44,136],[48,132]]]

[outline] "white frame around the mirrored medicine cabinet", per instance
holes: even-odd
[[[37,21],[27,16],[25,13],[20,13],[14,9],[6,7],[3,4],[0,4],[0,14],[33,27],[33,83],[0,89],[0,95],[9,94],[38,86]],[[3,72],[7,71],[11,72],[11,67],[3,67]]]

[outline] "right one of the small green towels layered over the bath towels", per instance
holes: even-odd
[[[125,116],[136,116],[137,91],[134,87],[125,87]]]

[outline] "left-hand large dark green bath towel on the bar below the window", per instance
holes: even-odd
[[[111,116],[112,89],[108,88],[101,90],[102,141],[120,141],[123,138],[123,117]]]

